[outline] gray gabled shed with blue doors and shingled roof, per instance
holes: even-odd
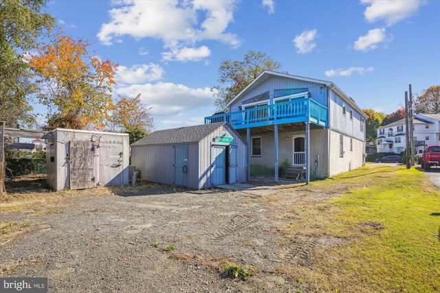
[[[140,178],[202,189],[246,180],[246,143],[228,123],[158,130],[131,144]]]

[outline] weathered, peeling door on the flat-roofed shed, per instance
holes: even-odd
[[[95,186],[92,145],[91,141],[70,141],[70,189]]]

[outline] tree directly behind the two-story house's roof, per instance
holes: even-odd
[[[219,67],[218,85],[212,87],[217,97],[217,110],[226,110],[227,104],[252,82],[262,71],[281,68],[281,63],[274,61],[260,51],[248,51],[243,60],[225,59]]]

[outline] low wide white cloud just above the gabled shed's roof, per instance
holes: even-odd
[[[153,108],[155,117],[174,116],[183,110],[211,106],[215,100],[208,87],[192,89],[184,84],[170,82],[132,84],[115,89],[115,93],[129,97],[140,93],[142,101]]]

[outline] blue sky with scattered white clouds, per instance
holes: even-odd
[[[115,94],[142,94],[155,129],[203,123],[221,60],[266,52],[391,113],[440,84],[440,1],[50,1],[65,33],[120,65]],[[42,106],[36,111],[46,113]]]

